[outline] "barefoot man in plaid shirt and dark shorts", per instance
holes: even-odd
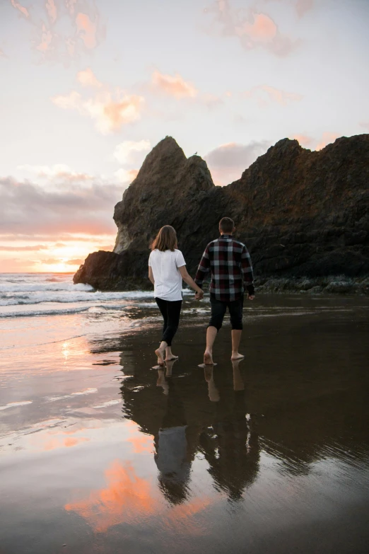
[[[206,330],[206,350],[204,364],[213,364],[213,344],[221,328],[225,311],[229,310],[232,325],[232,357],[241,359],[238,352],[242,334],[242,308],[244,290],[247,299],[254,299],[254,285],[250,254],[244,244],[233,238],[235,224],[230,217],[219,221],[221,236],[205,248],[195,283],[202,288],[206,274],[211,270],[210,303],[211,320]],[[199,298],[199,295],[196,295]]]

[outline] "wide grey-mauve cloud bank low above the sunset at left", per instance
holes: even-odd
[[[115,232],[112,206],[122,197],[122,186],[102,180],[88,186],[66,184],[49,190],[30,181],[0,178],[0,236],[14,234],[32,237],[57,237],[67,233],[88,236],[111,235]]]

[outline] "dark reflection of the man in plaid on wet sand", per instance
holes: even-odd
[[[247,423],[245,386],[239,364],[240,360],[233,362],[231,397],[223,390],[216,395],[213,369],[205,368],[209,396],[215,410],[213,426],[200,437],[201,449],[210,466],[209,473],[231,500],[242,497],[242,492],[254,481],[259,470],[258,437]]]

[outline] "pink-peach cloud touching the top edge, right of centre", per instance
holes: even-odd
[[[220,28],[221,35],[225,37],[238,37],[245,50],[260,47],[285,57],[298,45],[298,41],[283,35],[266,13],[249,9],[245,16],[244,11],[233,9],[229,0],[216,0],[206,8],[205,13],[215,14],[212,28]]]

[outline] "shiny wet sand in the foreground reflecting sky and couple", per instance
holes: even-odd
[[[369,301],[247,308],[213,369],[206,302],[164,371],[152,302],[4,327],[0,553],[366,553]]]

